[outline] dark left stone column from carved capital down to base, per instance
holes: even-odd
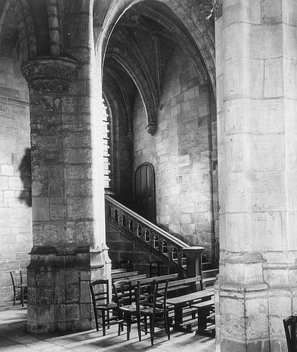
[[[30,89],[32,145],[28,330],[90,329],[89,281],[111,270],[101,135],[97,130],[94,140],[92,124],[100,111],[94,116],[96,97],[76,61],[40,58],[24,63],[22,72]]]

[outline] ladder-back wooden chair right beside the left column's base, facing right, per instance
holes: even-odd
[[[96,322],[96,329],[99,331],[99,325],[102,325],[103,336],[105,336],[105,329],[109,329],[111,320],[117,320],[118,317],[110,316],[113,309],[117,308],[115,303],[109,302],[109,281],[96,280],[89,283],[91,298],[94,307],[94,316]],[[98,315],[100,312],[100,316]],[[102,322],[98,318],[101,318]]]

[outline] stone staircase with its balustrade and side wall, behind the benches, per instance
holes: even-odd
[[[203,247],[187,245],[107,195],[105,209],[113,268],[131,260],[133,270],[149,275],[150,263],[159,262],[160,275],[201,276],[201,287],[213,285],[219,270],[212,263],[202,263]]]

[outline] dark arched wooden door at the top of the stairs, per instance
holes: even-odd
[[[135,211],[155,223],[155,170],[145,162],[137,167],[134,177]]]

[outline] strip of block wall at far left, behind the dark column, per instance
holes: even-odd
[[[5,47],[0,56],[0,302],[12,299],[10,271],[19,275],[32,248],[28,87]]]

